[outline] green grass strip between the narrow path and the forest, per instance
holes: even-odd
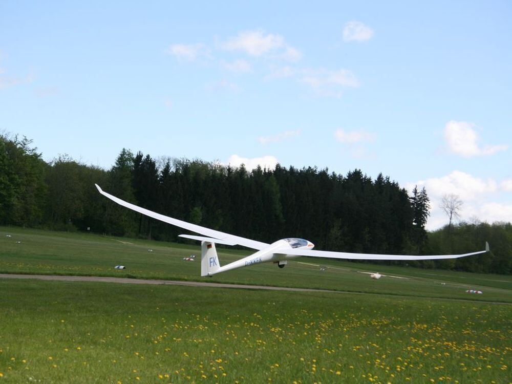
[[[11,237],[6,237],[10,234]],[[16,243],[19,241],[20,243]],[[152,249],[149,252],[148,249]],[[249,254],[218,249],[222,264]],[[198,261],[182,258],[196,254]],[[0,273],[45,273],[134,278],[200,280],[200,246],[103,237],[92,233],[51,232],[0,227]],[[115,270],[122,264],[125,270]],[[328,268],[319,269],[322,264]],[[374,281],[358,271],[376,271],[407,279]],[[450,297],[512,303],[512,276],[461,273],[397,266],[299,258],[279,269],[273,264],[223,272],[209,282],[323,288],[424,297]],[[444,283],[444,284],[443,284]],[[481,290],[482,295],[465,293]]]

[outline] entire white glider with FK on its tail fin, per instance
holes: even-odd
[[[190,234],[180,234],[179,236],[186,239],[198,240],[201,242],[201,276],[211,276],[216,273],[229,271],[231,269],[246,267],[260,263],[275,263],[280,268],[284,268],[289,259],[299,256],[309,256],[315,258],[331,258],[331,259],[351,259],[351,260],[436,260],[436,259],[456,259],[474,254],[485,253],[489,250],[489,245],[485,243],[485,250],[464,254],[447,254],[447,255],[431,255],[431,256],[415,256],[402,254],[371,254],[371,253],[349,253],[349,252],[332,252],[313,250],[314,244],[308,240],[287,238],[281,239],[272,244],[262,243],[260,241],[245,239],[233,234],[217,231],[215,229],[201,227],[197,224],[187,223],[186,221],[174,219],[172,217],[157,214],[151,210],[141,208],[135,204],[128,203],[115,196],[104,192],[98,184],[96,188],[101,195],[108,197],[115,203],[123,207],[130,208],[140,214],[146,215],[153,219],[163,221],[164,223],[176,225],[177,227],[187,229],[192,232],[200,233],[203,236],[195,236]],[[258,250],[257,252],[227,265],[221,267],[215,244],[224,245],[242,245],[247,248]]]

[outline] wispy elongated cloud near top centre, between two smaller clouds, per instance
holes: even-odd
[[[226,51],[244,51],[254,57],[274,54],[290,61],[297,61],[302,57],[300,51],[286,44],[283,36],[265,33],[261,29],[239,32],[237,36],[228,38],[220,47]]]

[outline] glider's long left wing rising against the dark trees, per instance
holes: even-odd
[[[135,204],[126,202],[126,201],[121,200],[115,196],[112,196],[111,194],[106,193],[105,191],[103,191],[100,188],[100,186],[98,184],[94,184],[94,185],[96,185],[96,188],[98,188],[98,191],[101,195],[108,197],[110,200],[112,200],[113,202],[115,202],[119,205],[122,205],[123,207],[130,208],[136,212],[139,212],[142,215],[146,215],[153,219],[163,221],[164,223],[176,225],[177,227],[188,229],[189,231],[192,231],[192,232],[200,233],[200,234],[210,238],[209,241],[211,241],[211,242],[218,242],[220,244],[229,244],[229,245],[242,245],[247,248],[258,249],[258,250],[268,247],[268,245],[269,245],[267,243],[262,243],[260,241],[245,239],[240,236],[234,236],[233,234],[217,231],[215,229],[201,227],[200,225],[197,225],[197,224],[187,223],[186,221],[182,221],[182,220],[174,219],[172,217],[157,214],[156,212],[153,212],[149,209],[139,207]],[[188,236],[188,238],[194,239],[193,237],[190,237],[190,236]],[[195,240],[199,240],[199,239],[195,239]],[[217,240],[217,241],[214,241],[214,240]]]

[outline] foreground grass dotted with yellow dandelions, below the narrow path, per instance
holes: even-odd
[[[0,280],[0,290],[6,382],[510,377],[510,305],[33,280]]]

